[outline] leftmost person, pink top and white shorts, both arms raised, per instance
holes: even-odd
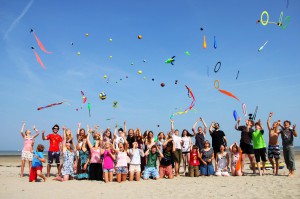
[[[22,128],[21,128],[21,135],[24,140],[24,147],[22,150],[20,177],[23,177],[26,160],[28,161],[29,171],[31,170],[31,163],[32,163],[32,159],[33,159],[32,152],[33,152],[34,138],[36,138],[40,134],[38,132],[38,130],[35,128],[35,126],[33,126],[33,130],[36,132],[36,134],[33,137],[30,136],[30,133],[31,133],[30,130],[26,130],[25,134],[24,134],[23,132],[24,132],[25,125],[26,125],[25,122],[23,122]]]

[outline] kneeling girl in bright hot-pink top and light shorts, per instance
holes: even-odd
[[[101,150],[101,155],[103,155],[103,173],[104,181],[112,182],[113,171],[114,171],[114,160],[116,156],[114,155],[114,150],[112,150],[112,144],[110,142],[105,142],[105,149]]]

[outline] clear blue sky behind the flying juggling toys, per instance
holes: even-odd
[[[290,0],[288,7],[286,0],[2,0],[0,150],[22,149],[22,121],[47,133],[56,123],[75,133],[77,122],[84,127],[113,128],[124,120],[128,128],[168,132],[170,115],[191,103],[184,85],[195,95],[197,112],[174,117],[180,131],[191,130],[202,116],[208,125],[219,122],[229,143],[239,141],[232,112],[245,119],[242,103],[248,112],[259,107],[257,118],[265,127],[273,111],[273,121],[288,119],[299,129],[299,8],[296,0]],[[256,24],[264,10],[270,22],[278,22],[283,11],[283,18],[291,17],[290,24],[285,30]],[[38,47],[30,29],[53,54]],[[204,35],[206,49],[202,47]],[[217,49],[213,48],[214,36]],[[31,46],[47,70],[38,64]],[[174,66],[165,64],[173,55]],[[218,61],[222,66],[215,73]],[[143,73],[139,75],[138,70]],[[218,92],[213,86],[216,79],[221,89],[240,101]],[[91,117],[80,91],[91,104]],[[106,93],[106,100],[99,99],[101,92]],[[37,107],[63,100],[69,104],[37,111]],[[114,101],[118,108],[113,108]],[[41,136],[36,142],[48,146]],[[300,145],[298,138],[295,145]]]

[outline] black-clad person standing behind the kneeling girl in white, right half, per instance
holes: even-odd
[[[223,145],[224,147],[227,147],[227,140],[225,137],[225,133],[222,130],[220,130],[219,123],[212,122],[209,127],[209,133],[212,140],[212,147],[214,149],[214,157],[216,159],[217,153],[220,152],[220,146]]]

